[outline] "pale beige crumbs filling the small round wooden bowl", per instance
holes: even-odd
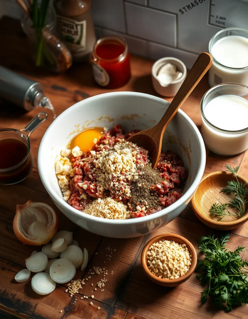
[[[191,255],[185,244],[159,241],[147,252],[148,269],[158,278],[177,279],[189,271]]]

